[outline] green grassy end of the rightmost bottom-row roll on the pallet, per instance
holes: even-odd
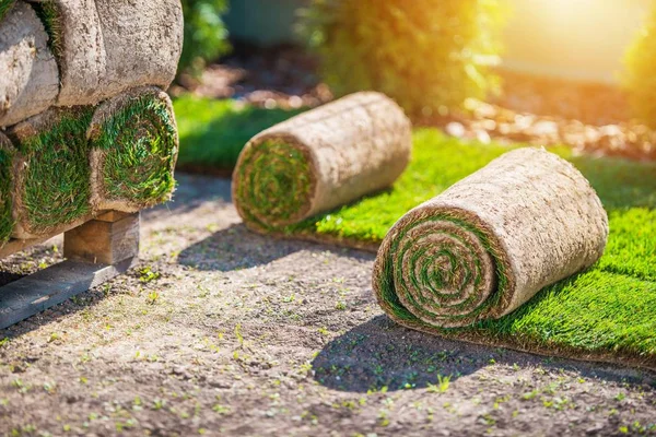
[[[107,199],[143,205],[168,199],[175,188],[177,143],[164,102],[137,98],[103,123],[93,145],[105,152],[102,176]]]

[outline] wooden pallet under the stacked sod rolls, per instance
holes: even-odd
[[[56,235],[10,240],[0,249],[0,258]],[[139,213],[110,211],[66,229],[65,261],[0,287],[0,329],[121,274],[133,265],[138,255]]]

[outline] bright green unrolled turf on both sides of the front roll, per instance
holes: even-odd
[[[378,247],[391,226],[418,204],[508,152],[496,143],[414,132],[413,158],[394,187],[285,231],[348,246]],[[435,329],[441,335],[579,359],[656,368],[656,163],[573,156],[608,211],[606,251],[590,269],[538,292],[497,320]]]

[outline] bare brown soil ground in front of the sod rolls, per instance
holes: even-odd
[[[395,326],[372,255],[254,235],[227,180],[178,178],[136,269],[0,332],[0,434],[656,435],[656,374]]]

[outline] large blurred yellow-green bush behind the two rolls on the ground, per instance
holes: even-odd
[[[499,88],[497,0],[312,0],[300,15],[338,96],[376,90],[421,117]]]

